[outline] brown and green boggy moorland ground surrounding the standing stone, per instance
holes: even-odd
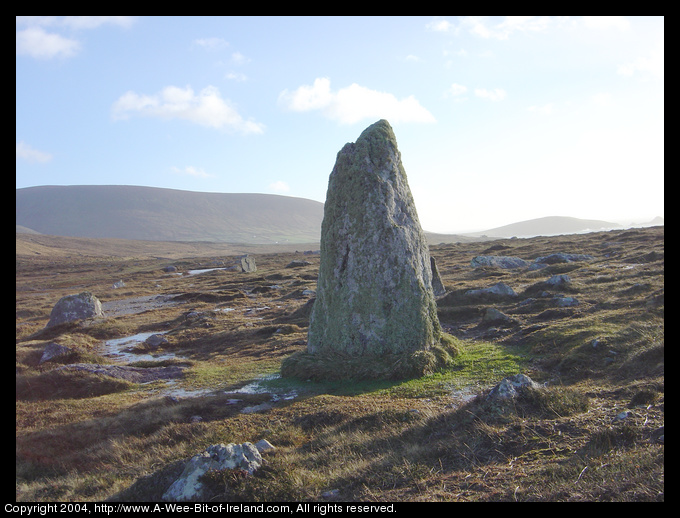
[[[277,377],[305,348],[318,255],[249,249],[256,272],[190,275],[243,250],[33,239],[17,236],[19,501],[159,500],[207,446],[263,438],[276,450],[253,476],[206,478],[214,500],[664,499],[663,227],[431,246],[458,354],[422,378],[351,383]],[[470,264],[559,252],[593,259]],[[555,275],[569,282],[545,282]],[[466,294],[499,282],[517,297]],[[59,298],[82,291],[105,318],[46,329]],[[507,318],[485,321],[489,308]],[[167,343],[112,356],[112,340],[138,333]],[[71,353],[41,364],[50,342]],[[67,367],[122,363],[183,375],[137,383]],[[487,398],[519,372],[545,388]]]

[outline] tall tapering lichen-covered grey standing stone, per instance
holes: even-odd
[[[306,353],[283,375],[393,378],[431,370],[441,339],[430,253],[391,126],[338,153],[328,182]]]

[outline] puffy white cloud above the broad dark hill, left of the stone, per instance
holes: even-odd
[[[114,120],[143,115],[159,119],[180,119],[216,129],[238,133],[262,133],[264,125],[244,120],[231,104],[222,99],[219,90],[208,86],[195,94],[190,86],[166,86],[154,95],[133,91],[123,94],[112,107]]]

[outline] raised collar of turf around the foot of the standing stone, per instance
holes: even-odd
[[[313,381],[398,380],[432,374],[451,365],[456,340],[445,335],[429,350],[380,356],[297,352],[281,363],[281,376]]]

